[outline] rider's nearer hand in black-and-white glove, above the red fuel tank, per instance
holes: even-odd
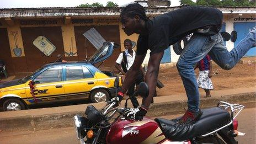
[[[124,116],[129,120],[142,120],[143,116],[147,114],[147,110],[140,106],[140,108],[125,109]]]

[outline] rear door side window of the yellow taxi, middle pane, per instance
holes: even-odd
[[[83,79],[82,66],[66,66],[66,80]]]

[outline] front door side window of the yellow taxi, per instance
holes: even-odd
[[[35,83],[51,83],[60,81],[62,81],[62,67],[49,68],[34,79]]]

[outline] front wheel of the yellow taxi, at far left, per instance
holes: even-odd
[[[26,109],[25,104],[19,99],[7,99],[3,103],[4,111],[16,111]]]

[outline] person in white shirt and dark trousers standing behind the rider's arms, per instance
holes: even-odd
[[[115,67],[121,72],[122,74],[126,75],[126,72],[129,71],[130,67],[132,66],[132,63],[134,63],[135,60],[135,51],[132,50],[132,42],[130,39],[126,39],[124,41],[125,51],[121,52],[121,54],[118,56],[118,59],[115,62]],[[134,94],[134,88],[135,84],[139,84],[140,82],[143,82],[143,69],[141,67],[141,71],[139,71],[135,83],[131,85],[131,87],[128,89],[128,95],[129,97]],[[139,106],[138,100],[135,97],[131,97],[131,103],[134,106],[134,108],[137,108]]]

